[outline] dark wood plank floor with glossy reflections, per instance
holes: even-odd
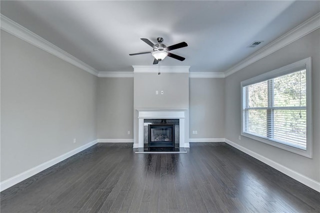
[[[225,143],[98,143],[1,192],[1,212],[320,212],[320,193]]]

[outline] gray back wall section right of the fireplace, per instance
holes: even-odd
[[[224,138],[224,78],[190,78],[189,85],[190,138]]]

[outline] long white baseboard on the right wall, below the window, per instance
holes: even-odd
[[[265,156],[262,156],[254,151],[251,151],[235,142],[232,142],[231,140],[225,139],[225,142],[241,151],[243,151],[244,153],[247,153],[248,155],[260,160],[261,162],[264,162],[265,164],[275,168],[276,170],[288,175],[289,177],[292,177],[293,179],[301,182],[302,184],[309,186],[310,188],[320,192],[320,182],[311,179],[301,173],[298,173],[284,165],[281,165]]]

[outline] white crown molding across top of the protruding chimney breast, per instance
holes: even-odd
[[[158,65],[151,66],[140,66],[140,65],[132,65],[133,72],[158,72]],[[175,72],[175,73],[188,73],[190,66],[160,66],[160,72]]]

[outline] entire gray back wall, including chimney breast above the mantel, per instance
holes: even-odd
[[[172,103],[179,104],[178,107],[181,108],[189,107],[190,138],[224,137],[223,78],[189,78],[189,106],[187,106],[187,93],[184,92],[182,86],[182,88],[176,86],[176,79],[170,77],[172,73],[136,74],[139,75],[138,78],[135,78],[138,107],[143,108],[144,105],[144,108],[146,106],[175,108],[176,105],[168,105]],[[167,76],[169,79],[165,79]],[[163,85],[162,82],[167,82],[168,85]],[[181,82],[178,85],[181,85]],[[187,87],[186,82],[183,82],[182,85]],[[164,90],[163,95],[155,95],[155,90],[160,92],[162,89]],[[141,92],[143,95],[138,95]],[[97,101],[97,137],[132,138],[132,109],[138,108],[133,107],[133,78],[99,78]],[[192,130],[197,130],[197,134],[192,135]]]

